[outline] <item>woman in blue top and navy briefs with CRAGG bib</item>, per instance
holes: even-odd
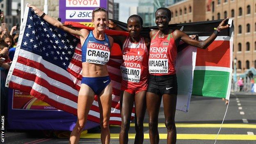
[[[28,6],[34,10],[35,14],[51,25],[80,37],[82,45],[82,80],[78,94],[78,119],[70,135],[69,143],[78,144],[90,107],[94,101],[94,95],[97,95],[100,110],[101,143],[109,144],[112,84],[106,63],[110,58],[113,38],[104,33],[108,25],[107,9],[98,7],[92,11],[91,22],[94,23],[94,30],[89,31],[81,28],[66,27],[37,7]]]

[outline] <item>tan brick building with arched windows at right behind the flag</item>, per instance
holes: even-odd
[[[173,14],[171,23],[233,19],[237,72],[256,68],[256,0],[183,0],[168,8]]]

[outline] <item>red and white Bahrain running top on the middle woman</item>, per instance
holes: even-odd
[[[123,64],[121,64],[122,83],[147,82],[148,49],[144,38],[132,43],[128,37],[123,44]]]

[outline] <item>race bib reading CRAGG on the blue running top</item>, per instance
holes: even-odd
[[[108,43],[100,44],[89,41],[86,49],[86,62],[94,64],[106,64],[110,58]]]

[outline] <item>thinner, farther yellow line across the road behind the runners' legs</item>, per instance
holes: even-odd
[[[176,123],[176,128],[219,128],[220,125],[218,123]],[[134,127],[135,123],[131,123],[130,126]],[[149,127],[149,124],[144,123],[143,126]],[[165,123],[158,123],[158,128],[165,128]],[[222,128],[256,128],[256,124],[230,123],[222,124]]]

